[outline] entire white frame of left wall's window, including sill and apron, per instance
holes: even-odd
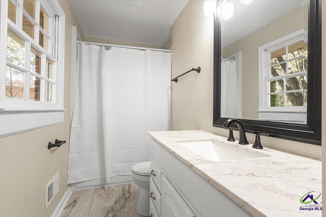
[[[23,5],[22,0],[14,0],[14,3],[17,6]],[[46,34],[46,32],[38,26],[39,22],[37,23],[37,21],[35,21],[39,20],[38,10],[40,9],[40,7],[42,7],[43,10],[47,13],[49,19],[51,19],[51,16],[53,16],[53,19],[56,19],[56,22],[58,24],[56,25],[56,31],[58,33],[57,37],[50,37],[51,35],[53,35],[52,32],[55,31],[55,26],[49,25],[49,33]],[[0,1],[0,12],[0,137],[30,131],[63,122],[65,14],[61,9],[58,1],[36,0],[35,20],[32,20],[32,22],[35,22],[34,24],[36,24],[34,28],[35,40],[31,39],[30,36],[24,33],[21,28],[22,13],[29,17],[29,15],[25,13],[25,10],[23,8],[17,8],[16,24],[7,18],[7,0]],[[19,16],[19,14],[21,16]],[[53,23],[51,21],[49,22]],[[12,99],[6,97],[5,94],[7,66],[7,28],[10,28],[16,35],[25,40],[25,46],[30,47],[30,45],[33,44],[33,47],[36,48],[36,50],[42,51],[43,54],[41,55],[41,58],[48,58],[52,62],[56,62],[56,64],[53,64],[52,80],[53,83],[55,82],[55,85],[52,89],[52,103],[29,100],[29,96],[26,96],[26,94],[25,100]],[[41,31],[43,35],[46,34],[47,38],[50,37],[52,39],[52,41],[49,40],[49,51],[45,51],[45,49],[39,45],[39,31]],[[57,41],[55,42],[55,40]],[[55,46],[53,46],[53,43],[58,44],[58,49],[52,50],[53,48],[55,48]],[[29,51],[30,48],[25,49]],[[53,56],[55,57],[53,58]],[[29,54],[25,55],[25,61],[29,61]],[[45,65],[42,64],[41,67],[43,68],[45,67]],[[30,72],[26,72],[28,71],[27,67],[25,67],[24,70],[26,73],[26,81],[30,79],[28,77],[30,75]],[[51,81],[50,79],[46,79],[44,75],[38,75],[38,77],[42,78],[43,88],[45,80]],[[29,81],[24,83],[24,88],[29,88],[29,86],[26,86],[26,84],[29,84]]]

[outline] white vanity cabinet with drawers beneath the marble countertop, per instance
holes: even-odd
[[[151,157],[151,216],[252,216],[158,143]]]

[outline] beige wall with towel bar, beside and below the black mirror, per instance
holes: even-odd
[[[193,67],[172,83],[172,130],[205,130],[228,135],[228,130],[212,127],[213,122],[213,18],[203,14],[204,1],[189,1],[172,26],[172,77]],[[324,13],[326,11],[324,10]],[[325,25],[324,25],[325,26]],[[235,132],[238,138],[238,133]],[[247,133],[249,142],[254,134]],[[277,138],[261,138],[267,147],[321,159],[321,146]]]

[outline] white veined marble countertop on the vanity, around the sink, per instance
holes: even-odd
[[[162,147],[194,170],[216,189],[254,216],[321,216],[300,199],[321,192],[321,161],[252,144],[239,145],[205,131],[148,132]],[[180,141],[218,140],[224,144],[264,154],[266,157],[213,162],[178,144]],[[321,203],[321,196],[316,200]],[[314,202],[309,205],[315,204]]]

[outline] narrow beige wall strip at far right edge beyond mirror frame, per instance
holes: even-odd
[[[322,56],[322,73],[321,73],[321,85],[322,88],[322,110],[321,110],[321,126],[322,126],[322,197],[326,200],[326,1],[322,1],[321,11],[323,12],[321,17],[322,25],[322,37],[321,37],[321,56]],[[326,217],[326,207],[323,206],[322,216]]]

